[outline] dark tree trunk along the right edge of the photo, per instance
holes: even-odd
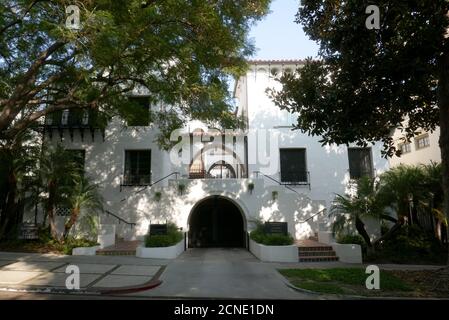
[[[446,50],[447,51],[447,50]],[[443,169],[444,212],[449,219],[449,53],[440,61],[438,82],[438,107],[440,110],[440,149]],[[449,266],[449,245],[448,260]]]

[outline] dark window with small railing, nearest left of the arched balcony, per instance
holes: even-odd
[[[151,183],[151,150],[126,150],[124,185]]]

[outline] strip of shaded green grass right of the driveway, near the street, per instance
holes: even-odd
[[[318,293],[378,296],[413,291],[410,283],[382,270],[380,290],[366,288],[369,275],[362,268],[283,269],[279,272],[294,286]]]

